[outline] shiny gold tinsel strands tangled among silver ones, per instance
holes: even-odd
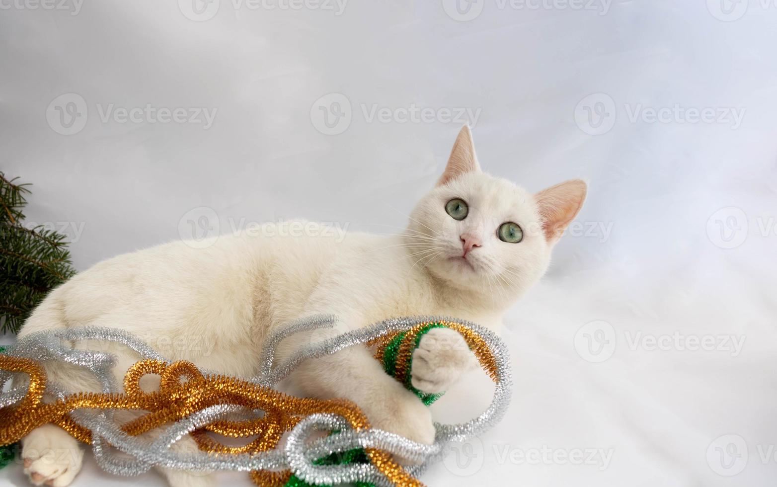
[[[496,380],[497,365],[483,339],[469,328],[456,322],[439,322],[460,332],[478,357],[481,365]],[[404,377],[414,350],[416,333],[430,323],[416,325],[406,332],[397,356],[395,377]],[[368,345],[377,346],[376,357],[382,359],[382,350],[397,335],[387,334]],[[345,399],[321,400],[296,398],[275,391],[272,388],[242,381],[235,377],[205,377],[194,364],[178,361],[166,364],[159,360],[141,360],[127,370],[124,376],[124,394],[103,394],[81,392],[68,395],[57,402],[44,402],[46,371],[34,360],[9,357],[0,354],[0,369],[20,372],[30,376],[30,387],[23,401],[0,409],[0,444],[12,444],[25,437],[30,431],[46,423],[61,426],[77,440],[91,444],[92,433],[79,426],[69,412],[74,409],[125,409],[145,411],[143,416],[122,426],[126,433],[137,436],[193,414],[201,409],[218,404],[237,404],[246,409],[262,410],[259,419],[245,421],[216,421],[194,431],[192,437],[201,450],[214,454],[257,453],[273,450],[280,437],[291,430],[300,419],[315,413],[334,413],[353,426],[354,430],[370,427],[364,413]],[[145,374],[158,374],[159,391],[141,390],[140,380]],[[185,381],[183,381],[185,379]],[[228,447],[219,443],[207,432],[225,437],[256,437],[242,447]],[[365,449],[370,461],[375,464],[395,485],[423,485],[410,476],[392,456],[385,451]],[[252,471],[251,478],[256,485],[284,485],[290,471]]]

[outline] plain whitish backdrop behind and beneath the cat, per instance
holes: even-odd
[[[773,2],[221,0],[197,16],[191,0],[14,1],[0,0],[2,170],[34,184],[28,221],[65,228],[78,270],[192,236],[190,220],[193,236],[291,217],[395,231],[465,121],[448,110],[469,109],[487,171],[591,190],[506,317],[507,419],[423,481],[774,485]],[[215,117],[103,117],[147,105]],[[411,106],[432,114],[403,122]],[[327,110],[344,117],[327,127]],[[720,350],[687,350],[706,336]],[[487,391],[453,391],[437,414],[477,412]],[[543,447],[560,453],[524,460]],[[611,452],[606,468],[568,460],[589,449]],[[18,466],[0,478],[26,482]],[[132,481],[89,459],[76,482]]]

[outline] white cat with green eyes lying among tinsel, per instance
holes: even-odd
[[[451,315],[497,329],[503,311],[545,273],[551,249],[586,191],[584,182],[572,180],[531,194],[481,172],[472,135],[463,127],[437,186],[400,235],[349,234],[336,242],[306,223],[307,233],[319,236],[244,234],[221,236],[205,248],[159,245],[79,273],[51,292],[19,336],[71,326],[115,327],[148,340],[170,359],[251,376],[268,333],[308,315],[338,316],[338,331],[403,315]],[[300,339],[311,338],[287,339],[279,353],[290,353]],[[136,359],[121,357],[119,377]],[[413,357],[413,385],[445,391],[474,363],[458,333],[434,329]],[[71,389],[96,390],[78,370],[48,372]],[[305,395],[349,398],[375,427],[434,441],[429,409],[385,374],[366,347],[308,360],[291,384]],[[176,447],[196,448],[188,437]],[[51,450],[59,454],[47,455]],[[60,487],[81,468],[82,450],[64,430],[49,425],[24,438],[22,457],[35,485]],[[174,487],[212,480],[161,470]]]

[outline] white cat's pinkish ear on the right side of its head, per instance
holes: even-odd
[[[571,179],[535,194],[545,242],[553,245],[559,241],[566,227],[580,213],[587,192],[585,181]]]

